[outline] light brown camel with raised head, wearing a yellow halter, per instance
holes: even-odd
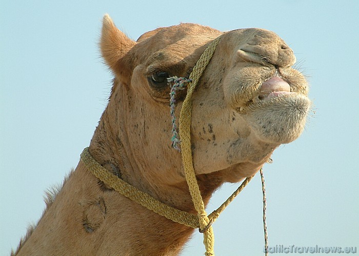
[[[278,146],[302,133],[311,103],[304,75],[292,68],[293,51],[268,30],[221,32],[186,23],[135,42],[109,15],[99,44],[114,80],[89,152],[118,178],[190,213],[181,153],[171,147],[167,78],[188,77],[218,36],[192,96],[193,167],[207,204],[222,184],[254,175]],[[177,115],[185,96],[186,89],[176,95]],[[178,255],[194,231],[117,193],[82,161],[46,203],[12,254]]]

